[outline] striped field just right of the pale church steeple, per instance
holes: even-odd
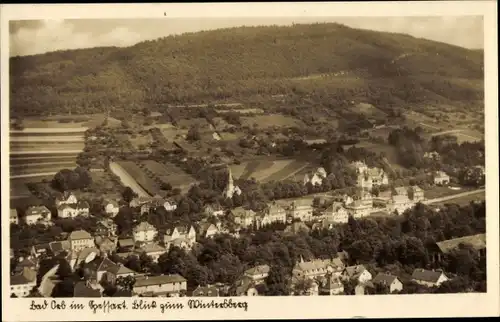
[[[281,181],[293,177],[307,168],[307,162],[298,160],[255,160],[231,165],[235,179],[254,178],[258,182]]]

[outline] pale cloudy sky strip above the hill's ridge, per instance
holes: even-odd
[[[482,16],[165,18],[10,21],[10,56],[102,46],[126,47],[169,35],[219,28],[337,22],[353,28],[405,33],[471,49],[482,49]]]

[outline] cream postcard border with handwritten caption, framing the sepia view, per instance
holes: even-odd
[[[496,1],[375,2],[375,3],[237,3],[237,4],[84,4],[84,5],[2,5],[2,214],[9,212],[8,84],[9,20],[82,18],[164,18],[167,17],[325,17],[325,16],[439,16],[483,15],[485,49],[485,120],[487,203],[487,285],[486,294],[386,295],[335,297],[251,297],[247,312],[241,309],[154,311],[30,311],[31,299],[11,299],[9,286],[9,222],[2,216],[2,311],[7,321],[50,320],[165,320],[165,319],[298,319],[393,317],[476,317],[499,315],[499,218],[498,218],[498,66]],[[50,300],[50,299],[49,299]],[[87,303],[87,300],[66,299]],[[110,298],[113,302],[119,299]],[[131,299],[127,299],[128,302]],[[164,299],[162,302],[176,300]],[[187,299],[179,299],[183,303]],[[129,305],[130,306],[130,305]]]

